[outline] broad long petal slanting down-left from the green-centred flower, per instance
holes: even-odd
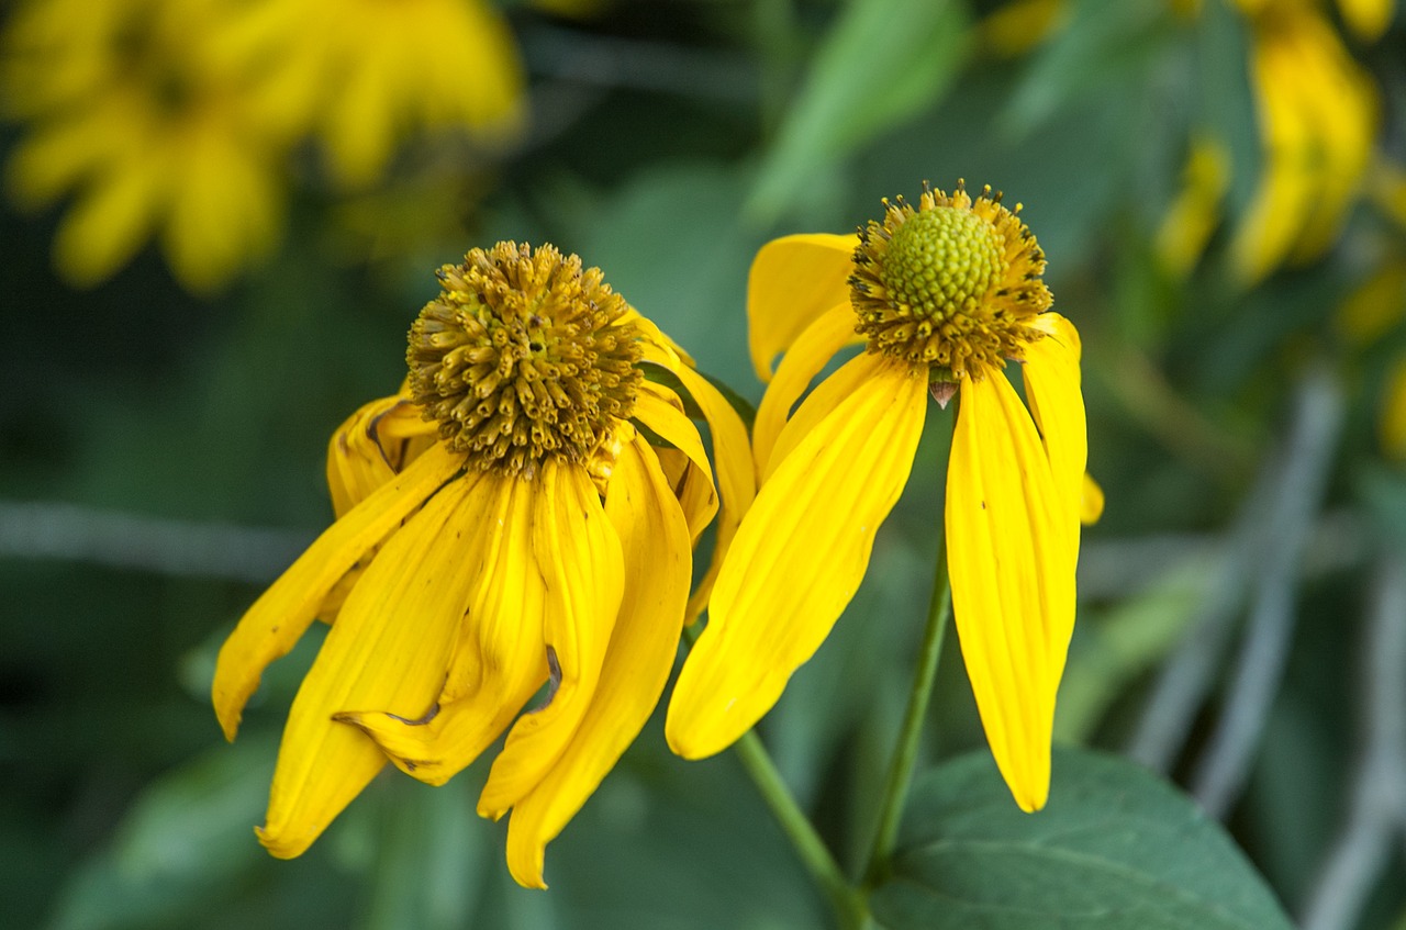
[[[686,759],[745,733],[820,648],[908,479],[927,379],[877,357],[856,362],[870,376],[776,468],[733,539],[669,702],[665,733]]]

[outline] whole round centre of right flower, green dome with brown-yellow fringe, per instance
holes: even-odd
[[[884,201],[883,221],[859,230],[849,278],[855,330],[869,351],[927,368],[935,381],[980,379],[1042,333],[1031,320],[1053,298],[1045,253],[1001,195],[950,197],[924,185],[917,209]]]

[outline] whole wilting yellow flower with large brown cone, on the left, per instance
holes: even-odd
[[[647,371],[709,420],[724,544],[751,499],[747,433],[575,256],[499,243],[439,277],[406,386],[329,447],[336,523],[240,620],[212,700],[232,739],[264,667],[335,614],[288,714],[264,846],[301,854],[387,760],[443,784],[510,728],[478,809],[513,811],[509,868],[546,886],[546,844],[658,701],[720,506],[683,399]]]

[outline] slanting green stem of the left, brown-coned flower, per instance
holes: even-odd
[[[683,636],[688,639],[689,646],[693,646],[693,642],[697,639],[696,628],[685,627]],[[776,818],[776,823],[796,849],[800,861],[806,865],[811,878],[815,879],[815,884],[825,892],[825,896],[830,898],[839,927],[842,930],[860,930],[869,926],[869,912],[863,896],[845,878],[845,872],[835,863],[835,857],[831,856],[825,841],[820,839],[815,826],[796,802],[790,788],[786,787],[786,781],[776,771],[776,763],[772,761],[756,731],[747,731],[734,743],[733,749],[737,750],[737,757],[742,763],[742,768],[752,778],[758,794],[762,795],[762,801],[770,808],[772,816]]]

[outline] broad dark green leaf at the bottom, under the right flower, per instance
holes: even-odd
[[[1173,785],[1063,747],[1035,815],[1015,806],[984,752],[928,773],[872,903],[891,930],[1292,926],[1220,825]]]

